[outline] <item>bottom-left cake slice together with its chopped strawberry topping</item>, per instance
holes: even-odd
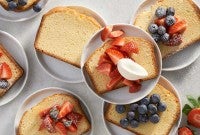
[[[69,112],[72,106],[73,106],[73,112]],[[52,111],[52,107],[59,108],[58,115],[55,115],[56,114],[55,110]],[[63,107],[64,109],[62,109]],[[51,108],[51,109],[49,110],[48,108]],[[47,113],[47,115],[44,116],[45,113],[47,112],[46,110],[48,110],[50,114]],[[54,121],[52,117],[54,116],[60,117],[61,116],[60,113],[63,110],[65,110],[64,111],[65,114],[68,113],[67,116],[63,117],[62,120],[57,119]],[[61,114],[63,115],[63,112]],[[72,117],[72,114],[78,114],[78,116],[73,115],[74,117]],[[76,126],[73,123],[74,121],[72,123],[68,121],[69,123],[67,123],[68,125],[66,125],[68,126],[68,129],[65,129],[66,127],[63,124],[63,119],[71,120],[71,118],[68,117],[69,115],[71,115],[71,118],[73,120],[75,120],[77,117],[80,117],[80,116],[81,116],[81,119],[79,120],[78,118],[77,120],[75,120]],[[42,118],[42,117],[45,117],[45,118]],[[48,125],[48,122],[47,122],[48,119],[46,119],[46,117],[50,119],[51,124]],[[54,122],[54,124],[52,123],[52,121]],[[46,123],[47,127],[50,127],[50,128],[47,128],[45,126],[42,127],[42,122]],[[70,124],[73,126],[70,126]],[[55,126],[55,127],[53,128],[52,126]],[[88,132],[90,128],[91,128],[90,123],[87,120],[87,117],[84,111],[82,110],[78,99],[68,94],[54,94],[54,95],[44,98],[36,106],[27,110],[23,114],[19,127],[18,127],[18,135],[51,135],[51,134],[52,135],[60,135],[60,134],[82,135]]]

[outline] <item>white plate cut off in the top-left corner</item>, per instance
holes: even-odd
[[[39,4],[44,9],[45,5],[47,4],[48,0],[40,0]],[[19,22],[31,19],[42,12],[35,12],[32,8],[22,11],[22,12],[14,12],[14,11],[7,11],[0,5],[0,20],[4,21],[11,21],[11,22]]]

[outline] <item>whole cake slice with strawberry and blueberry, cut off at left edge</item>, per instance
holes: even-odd
[[[23,69],[0,44],[0,97],[23,75]]]

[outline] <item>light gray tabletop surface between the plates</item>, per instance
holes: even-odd
[[[200,0],[196,0],[200,4]],[[47,12],[56,5],[82,5],[98,12],[108,24],[129,23],[132,12],[140,0],[49,0],[44,12]],[[43,13],[44,13],[43,12]],[[42,13],[42,14],[43,14]],[[90,92],[84,83],[68,84],[59,82],[50,77],[41,68],[34,54],[34,38],[40,23],[42,14],[29,21],[20,23],[11,23],[0,21],[0,29],[14,35],[24,46],[29,60],[29,78],[24,90],[12,102],[0,107],[0,135],[14,134],[14,118],[21,102],[35,90],[44,87],[62,87],[73,90],[81,96],[88,104],[94,117],[95,135],[108,135],[102,120],[102,101]],[[190,94],[195,97],[200,95],[200,58],[189,67],[175,71],[164,72],[163,75],[168,78],[179,90],[183,100],[186,103],[185,95]],[[184,119],[185,121],[185,119]]]

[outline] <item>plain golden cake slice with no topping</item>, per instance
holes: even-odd
[[[83,47],[100,28],[91,16],[56,7],[43,16],[35,49],[80,68]]]

